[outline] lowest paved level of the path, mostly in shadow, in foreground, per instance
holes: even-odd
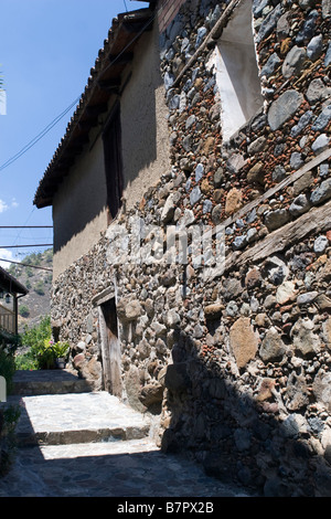
[[[0,479],[0,497],[248,497],[149,438],[28,447]]]

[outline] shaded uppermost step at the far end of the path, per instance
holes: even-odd
[[[18,370],[13,378],[14,395],[87,393],[92,391],[85,379],[68,370]]]

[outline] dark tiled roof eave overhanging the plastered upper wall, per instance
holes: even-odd
[[[85,91],[67,125],[66,134],[38,187],[33,200],[38,209],[52,205],[57,187],[68,173],[75,158],[82,152],[82,147],[88,142],[90,128],[96,126],[99,114],[107,110],[110,97],[118,95],[118,83],[128,64],[129,54],[132,59],[137,41],[142,33],[151,30],[153,18],[152,9],[147,8],[120,13],[113,20],[108,39],[105,40],[95,66],[90,70]]]

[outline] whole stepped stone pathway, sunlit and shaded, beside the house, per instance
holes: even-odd
[[[24,395],[24,388],[35,393],[33,379],[46,394]],[[61,393],[64,379],[72,379],[67,390],[76,392]],[[20,402],[22,409],[19,448],[0,479],[0,497],[247,496],[207,477],[184,456],[162,453],[149,436],[146,416],[106,392],[84,388],[65,372],[17,375],[20,394],[8,403]]]

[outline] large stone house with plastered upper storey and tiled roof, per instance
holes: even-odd
[[[34,200],[72,368],[266,496],[331,491],[330,15],[120,14]]]

